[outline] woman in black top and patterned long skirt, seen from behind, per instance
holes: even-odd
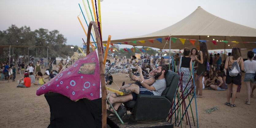
[[[179,70],[179,76],[181,76],[181,73],[184,73],[182,76],[182,91],[184,92],[183,94],[186,96],[190,90],[191,87],[191,80],[189,81],[189,77],[191,74],[192,70],[192,59],[189,57],[190,50],[188,48],[184,48],[183,51],[183,57],[181,57],[181,66]],[[189,82],[187,86],[187,91],[185,90],[187,83]]]

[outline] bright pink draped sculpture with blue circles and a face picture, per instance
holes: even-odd
[[[100,98],[100,68],[96,50],[39,87],[36,95],[56,92],[71,100]]]

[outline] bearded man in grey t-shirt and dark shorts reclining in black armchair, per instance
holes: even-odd
[[[114,104],[115,110],[124,102],[129,100],[136,100],[137,95],[146,94],[146,95],[155,95],[161,96],[162,92],[166,88],[165,74],[168,72],[167,67],[164,65],[159,65],[156,69],[156,81],[150,86],[146,84],[140,77],[133,75],[134,80],[138,81],[141,86],[136,84],[131,84],[126,88],[123,88],[121,92],[124,93],[123,96],[120,96],[116,93],[109,93],[109,102]]]

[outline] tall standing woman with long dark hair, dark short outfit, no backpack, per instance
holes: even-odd
[[[207,68],[209,53],[208,53],[206,43],[200,42],[199,47],[200,47],[200,51],[198,53],[198,56],[196,55],[196,61],[198,62],[197,63],[197,77],[199,77],[199,79],[196,82],[196,95],[198,95],[198,89],[199,89],[198,98],[202,98],[203,76],[204,76],[204,72],[206,71],[206,68]],[[197,78],[197,77],[195,77],[195,78]]]

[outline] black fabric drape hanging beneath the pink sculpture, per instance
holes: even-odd
[[[47,93],[44,97],[51,112],[48,128],[101,127],[101,98],[74,102],[58,93]]]

